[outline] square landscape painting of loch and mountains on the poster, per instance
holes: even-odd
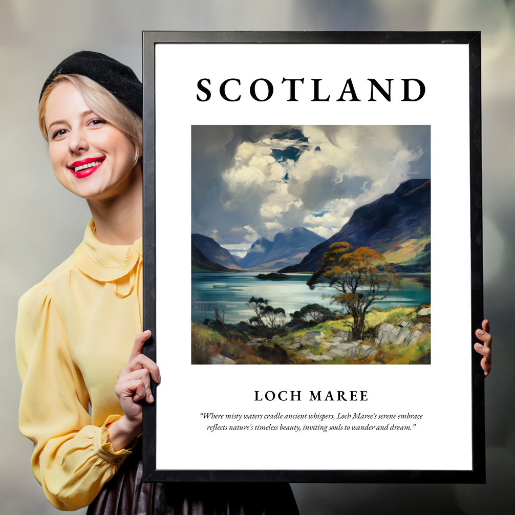
[[[431,127],[192,126],[192,364],[431,364]]]

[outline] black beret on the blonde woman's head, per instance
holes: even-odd
[[[67,57],[48,76],[39,99],[58,75],[84,75],[104,86],[136,114],[143,116],[143,84],[136,74],[116,59],[98,52],[83,50]]]

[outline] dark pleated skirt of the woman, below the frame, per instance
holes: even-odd
[[[288,483],[143,483],[134,451],[87,515],[299,515]]]

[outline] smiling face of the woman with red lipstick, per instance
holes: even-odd
[[[48,95],[45,126],[54,173],[75,195],[107,200],[122,195],[141,174],[131,140],[92,112],[71,82],[58,83]]]

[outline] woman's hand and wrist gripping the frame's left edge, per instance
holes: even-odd
[[[154,402],[150,376],[156,383],[161,382],[159,367],[143,354],[143,346],[150,335],[150,331],[145,331],[136,336],[129,363],[118,372],[114,391],[125,415],[107,426],[108,440],[115,451],[127,447],[143,430],[143,406],[140,401]]]

